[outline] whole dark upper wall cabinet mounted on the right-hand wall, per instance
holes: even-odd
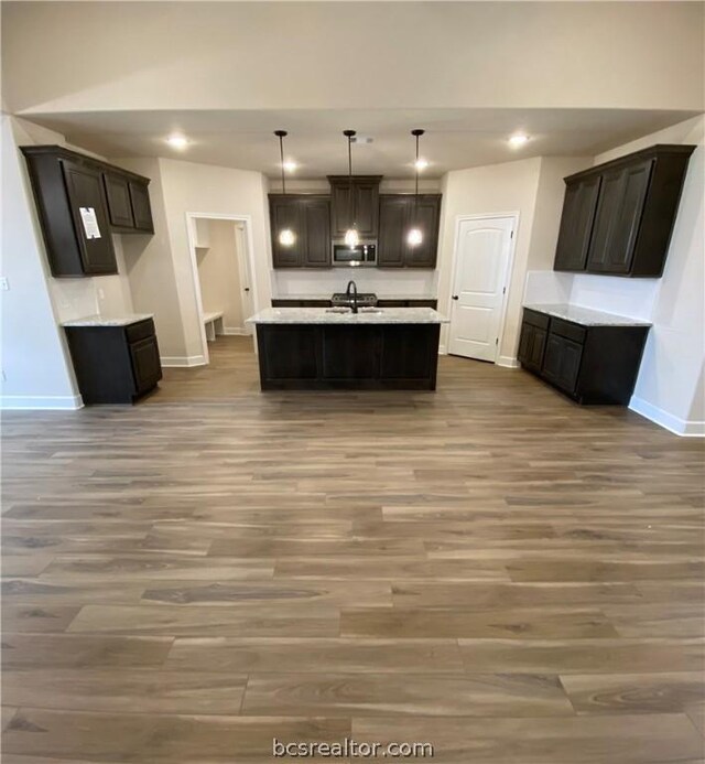
[[[694,149],[658,144],[566,177],[554,269],[661,276]]]

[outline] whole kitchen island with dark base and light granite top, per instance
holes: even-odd
[[[431,308],[270,308],[257,327],[262,390],[435,390],[441,324]]]

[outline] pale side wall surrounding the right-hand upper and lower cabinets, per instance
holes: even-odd
[[[654,143],[691,143],[683,195],[665,270],[660,279],[573,277],[571,301],[597,310],[621,306],[649,292],[644,318],[653,327],[644,351],[631,408],[676,432],[705,434],[705,121],[687,120],[595,158],[616,159]],[[627,313],[629,314],[629,313]]]

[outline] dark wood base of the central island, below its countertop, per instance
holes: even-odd
[[[258,324],[262,390],[435,390],[440,324]]]

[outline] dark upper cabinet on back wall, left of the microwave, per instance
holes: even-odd
[[[270,194],[274,268],[330,267],[330,202],[327,196]],[[294,243],[283,245],[279,233],[289,228]]]

